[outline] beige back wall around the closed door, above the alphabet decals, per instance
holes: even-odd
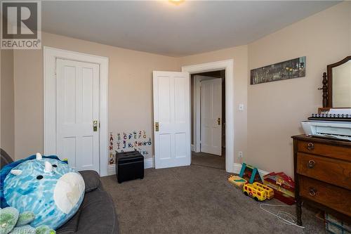
[[[42,34],[44,46],[106,56],[109,61],[109,131],[145,129],[152,135],[152,71],[178,70],[176,58],[90,41]],[[43,151],[43,51],[15,51],[16,159]]]

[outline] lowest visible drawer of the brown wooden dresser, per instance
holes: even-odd
[[[351,216],[351,191],[300,176],[300,196]]]

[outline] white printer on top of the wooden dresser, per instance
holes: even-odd
[[[316,114],[301,125],[306,135],[338,138],[351,141],[351,109],[331,109],[325,114]]]

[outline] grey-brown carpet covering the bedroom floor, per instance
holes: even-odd
[[[146,169],[143,180],[101,178],[124,233],[325,233],[323,221],[303,209],[305,230],[286,225],[209,167]],[[282,204],[277,200],[270,204]],[[295,214],[294,207],[279,208]]]

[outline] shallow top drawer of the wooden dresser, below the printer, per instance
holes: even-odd
[[[334,157],[340,160],[351,160],[351,148],[315,143],[313,141],[298,141],[298,151]]]

